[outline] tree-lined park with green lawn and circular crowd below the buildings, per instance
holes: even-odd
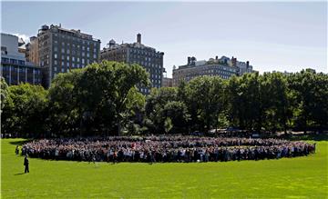
[[[202,76],[145,96],[147,72],[116,62],[49,89],[2,79],[1,197],[326,198],[327,80]]]

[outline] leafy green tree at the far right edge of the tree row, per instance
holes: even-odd
[[[302,70],[288,77],[292,93],[293,125],[306,133],[327,127],[327,75]]]

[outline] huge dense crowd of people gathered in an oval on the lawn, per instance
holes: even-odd
[[[42,139],[22,154],[54,160],[97,162],[217,162],[276,159],[315,153],[315,144],[280,139],[198,136],[114,136]]]

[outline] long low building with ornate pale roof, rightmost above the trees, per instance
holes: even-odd
[[[242,75],[244,73],[252,73],[250,62],[239,62],[237,58],[229,58],[227,56],[215,59],[210,58],[208,61],[197,59],[192,56],[188,57],[187,65],[180,65],[178,68],[173,67],[173,86],[178,86],[180,81],[189,82],[197,76],[220,76],[228,79],[231,75]]]

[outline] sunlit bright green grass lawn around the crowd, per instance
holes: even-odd
[[[281,160],[194,164],[106,164],[30,158],[19,139],[1,140],[1,198],[327,198],[328,142]]]

